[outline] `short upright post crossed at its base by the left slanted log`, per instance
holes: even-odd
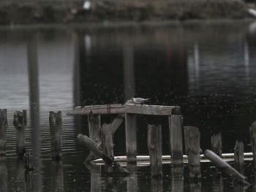
[[[102,125],[102,149],[104,153],[108,155],[109,158],[114,160],[112,130],[111,130],[110,124],[106,124],[106,123]],[[112,162],[113,161],[111,162],[105,161],[105,172],[107,174],[113,173]]]

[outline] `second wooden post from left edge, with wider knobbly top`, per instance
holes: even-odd
[[[26,122],[26,110],[23,110],[23,112],[16,111],[14,113],[13,125],[16,128],[16,153],[18,155],[18,158],[23,158],[23,155],[26,152]]]

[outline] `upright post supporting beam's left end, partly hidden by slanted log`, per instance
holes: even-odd
[[[100,126],[100,115],[94,115],[92,112],[88,115],[89,123],[89,137],[96,143],[101,142],[101,126]],[[91,154],[89,161],[97,159],[97,155]]]

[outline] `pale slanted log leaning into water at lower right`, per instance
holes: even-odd
[[[244,175],[240,174],[238,171],[236,171],[236,169],[233,169],[230,164],[227,164],[227,162],[223,161],[222,158],[220,158],[216,153],[212,152],[211,150],[205,150],[204,156],[218,168],[222,169],[223,172],[235,177],[236,180],[240,181],[241,183],[249,185],[249,183],[246,182],[246,177],[244,177]]]

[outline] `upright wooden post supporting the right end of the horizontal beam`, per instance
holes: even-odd
[[[182,115],[169,116],[171,164],[183,164]]]

